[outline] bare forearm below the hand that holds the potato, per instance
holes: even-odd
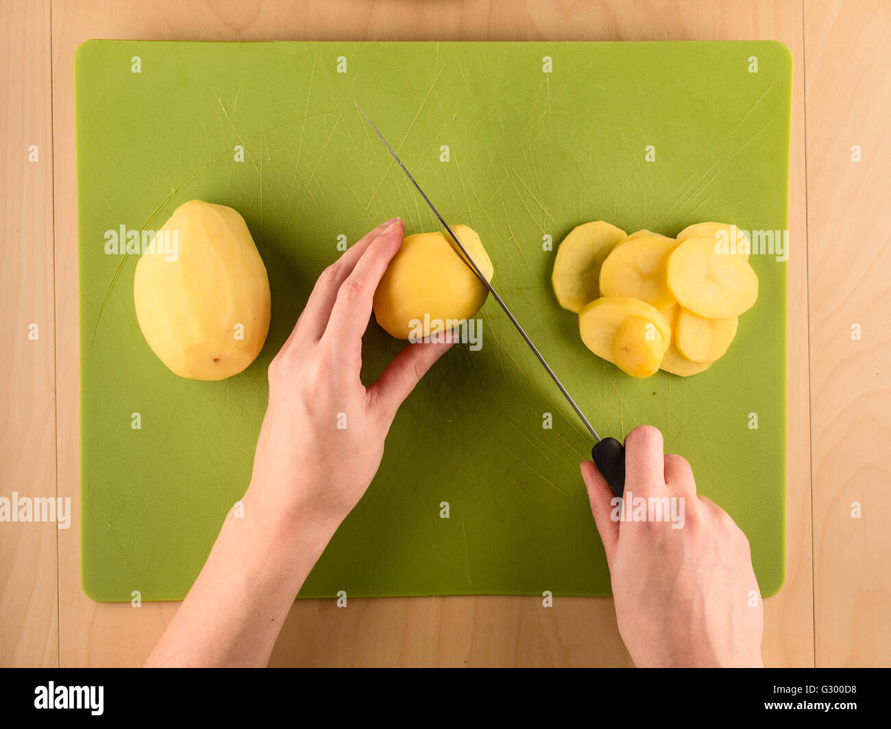
[[[251,489],[254,489],[252,486]],[[334,528],[285,520],[249,489],[146,666],[266,666]]]

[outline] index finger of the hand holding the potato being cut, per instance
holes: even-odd
[[[331,318],[322,341],[335,353],[349,354],[362,345],[362,335],[372,314],[374,291],[396,256],[405,233],[401,220],[390,223],[368,246],[346,280],[340,284]]]

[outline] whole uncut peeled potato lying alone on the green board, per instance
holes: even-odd
[[[266,266],[244,218],[225,205],[184,202],[152,244],[133,282],[151,351],[192,380],[240,373],[263,348],[271,304]]]

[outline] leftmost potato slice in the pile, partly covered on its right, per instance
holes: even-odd
[[[600,295],[601,266],[625,231],[602,220],[576,225],[557,249],[551,283],[560,306],[578,314]]]

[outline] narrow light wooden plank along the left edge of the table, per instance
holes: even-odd
[[[0,496],[54,497],[49,2],[0,4]],[[37,160],[29,161],[29,147]],[[37,325],[37,340],[29,326]],[[59,659],[53,523],[0,524],[0,666]]]

